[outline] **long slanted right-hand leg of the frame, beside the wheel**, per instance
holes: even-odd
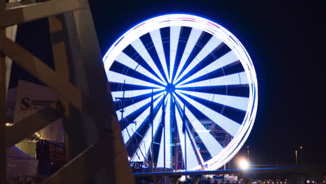
[[[84,73],[86,75],[86,84],[88,84],[89,96],[93,100],[93,112],[95,124],[99,135],[109,135],[107,139],[107,157],[108,165],[104,167],[104,174],[109,181],[107,183],[134,183],[130,164],[127,162],[126,151],[123,144],[121,131],[113,134],[114,127],[119,127],[116,121],[116,114],[114,110],[114,103],[111,97],[111,91],[107,86],[107,75],[104,71],[102,63],[102,56],[98,45],[95,28],[91,11],[89,9],[78,10],[73,12],[75,18],[75,25],[77,29],[77,36],[81,49],[81,63],[84,66]],[[67,22],[67,25],[68,22]],[[80,62],[80,61],[79,61]],[[105,109],[105,112],[103,110]],[[120,128],[119,128],[120,129]],[[91,138],[91,137],[89,137]],[[121,147],[114,146],[115,144]],[[120,153],[120,154],[116,154]],[[115,156],[116,155],[116,156]],[[99,176],[99,178],[101,178]],[[100,181],[96,183],[101,183]]]

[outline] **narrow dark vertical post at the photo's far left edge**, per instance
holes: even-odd
[[[6,1],[0,0],[0,12],[6,10]],[[0,29],[6,36],[6,29]],[[0,183],[6,183],[6,56],[0,53]]]

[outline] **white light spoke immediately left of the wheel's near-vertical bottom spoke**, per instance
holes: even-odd
[[[157,133],[158,127],[160,125],[160,120],[162,118],[162,108],[157,112],[154,121],[153,121],[153,132],[154,132],[154,137]],[[148,153],[148,149],[150,148],[150,144],[152,142],[152,127],[148,128],[145,136],[141,140],[141,143],[139,144],[139,148],[137,148],[137,154],[134,154],[134,157],[132,158],[133,162],[143,162],[145,158],[141,153],[146,156],[146,153]],[[138,156],[139,155],[139,158]]]

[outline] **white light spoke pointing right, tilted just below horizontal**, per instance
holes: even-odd
[[[196,96],[201,99],[209,100],[211,102],[216,102],[222,105],[226,105],[228,107],[240,109],[242,111],[247,111],[248,102],[249,102],[249,98],[240,97],[240,96],[219,95],[213,93],[202,93],[202,92],[184,91],[184,90],[178,90],[178,91],[188,95]]]

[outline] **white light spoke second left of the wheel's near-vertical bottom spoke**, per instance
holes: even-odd
[[[159,98],[155,99],[153,102],[153,107],[156,108],[157,104],[162,100],[163,95],[161,95]],[[130,123],[127,125],[127,128],[123,129],[122,135],[123,135],[123,141],[126,143],[129,141],[130,136],[134,135],[134,132],[138,130],[139,127],[143,124],[143,121],[150,115],[150,107],[148,107],[145,111],[143,111],[135,120],[134,123]],[[128,135],[130,134],[130,136]]]

